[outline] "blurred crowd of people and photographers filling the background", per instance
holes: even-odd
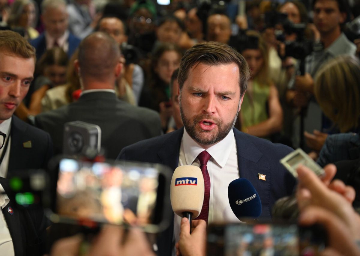
[[[184,52],[204,41],[229,44],[249,64],[251,79],[235,125],[241,131],[305,148],[314,159],[328,134],[358,132],[357,117],[346,127],[328,118],[338,108],[320,106],[319,98],[324,105],[330,98],[323,90],[333,90],[316,88],[314,81],[330,59],[359,56],[359,1],[21,0],[2,1],[0,9],[2,27],[36,48],[36,79],[16,111],[27,122],[77,100],[82,88],[73,65],[76,48],[101,31],[122,51],[118,97],[157,111],[164,133],[179,128],[171,76]]]

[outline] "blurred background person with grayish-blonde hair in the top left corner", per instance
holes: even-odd
[[[38,20],[39,10],[32,0],[16,0],[10,9],[8,25],[11,28],[22,28],[24,37],[28,40],[35,39],[39,32],[34,28]]]

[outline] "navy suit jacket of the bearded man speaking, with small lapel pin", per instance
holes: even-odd
[[[259,194],[262,204],[261,218],[271,217],[275,201],[290,195],[296,184],[295,178],[279,163],[279,160],[292,151],[292,148],[274,144],[268,140],[250,136],[233,129],[240,178],[248,179]],[[175,170],[179,165],[180,143],[184,128],[175,132],[140,141],[125,147],[118,159],[158,163]],[[260,180],[258,174],[265,174]],[[171,232],[167,233],[167,232]],[[172,247],[172,227],[159,237],[159,255],[169,255]]]

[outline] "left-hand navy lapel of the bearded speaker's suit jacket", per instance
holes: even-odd
[[[162,164],[170,166],[174,171],[179,165],[179,154],[181,138],[183,138],[184,128],[178,129],[171,133],[158,151],[158,157]],[[172,156],[172,157],[169,157]]]

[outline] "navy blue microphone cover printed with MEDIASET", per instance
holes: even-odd
[[[247,179],[239,178],[230,182],[228,196],[231,210],[239,220],[256,219],[261,215],[259,194]]]

